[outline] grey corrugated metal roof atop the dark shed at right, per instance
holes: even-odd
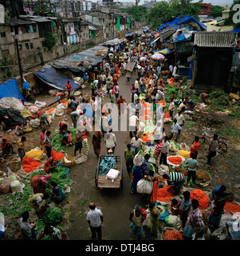
[[[237,46],[236,32],[195,32],[194,45],[199,47],[232,48]]]

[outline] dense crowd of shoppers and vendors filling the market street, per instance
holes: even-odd
[[[228,202],[230,193],[222,184],[216,187],[210,197],[206,198],[210,212],[203,218],[203,199],[206,195],[196,189],[196,173],[199,170],[199,137],[195,136],[188,150],[185,169],[187,173],[179,171],[179,156],[171,154],[171,146],[177,143],[184,130],[184,112],[192,112],[195,102],[189,95],[183,97],[183,89],[187,79],[178,74],[174,58],[166,59],[164,56],[155,59],[152,56],[161,49],[159,42],[151,45],[154,35],[152,33],[139,34],[111,47],[104,62],[93,68],[82,80],[85,88],[89,86],[89,94],[85,89],[76,96],[68,82],[66,90],[56,94],[56,100],[65,105],[65,111],[71,118],[72,124],[61,120],[58,134],[61,146],[72,147],[73,156],[82,158],[89,154],[89,144],[92,145],[97,157],[101,152],[115,154],[117,137],[112,126],[114,119],[129,112],[129,142],[124,149],[125,168],[129,179],[132,180],[129,188],[130,196],[136,193],[147,194],[148,209],[136,204],[129,214],[132,236],[142,238],[144,226],[150,230],[152,238],[159,239],[162,232],[163,240],[179,239],[205,239],[207,234],[218,230],[224,206]],[[128,102],[121,94],[120,76],[125,77],[129,85]],[[134,82],[130,83],[134,77]],[[178,92],[166,99],[167,86],[177,86]],[[32,97],[27,94],[27,98]],[[201,99],[207,100],[207,94],[201,94]],[[103,104],[108,102],[108,104]],[[118,107],[118,115],[113,115],[110,103]],[[132,104],[128,104],[132,103]],[[123,108],[121,106],[127,106]],[[144,106],[144,117],[141,108]],[[167,106],[167,108],[166,108]],[[161,109],[163,108],[163,111]],[[94,130],[96,118],[101,118],[100,130]],[[30,195],[29,204],[35,210],[38,218],[42,218],[48,209],[45,187],[50,183],[52,191],[50,197],[53,202],[60,204],[65,200],[65,188],[52,181],[52,175],[58,160],[53,150],[53,138],[50,123],[45,110],[38,110],[35,118],[39,120],[39,137],[41,149],[48,159],[44,164],[44,175],[35,175],[31,178],[33,194]],[[166,125],[171,122],[171,126]],[[140,126],[144,132],[140,131]],[[151,128],[151,129],[150,129]],[[170,128],[170,129],[169,129]],[[23,159],[26,156],[27,138],[23,134],[24,126],[16,127],[19,136],[17,149],[5,138],[2,139],[2,155],[18,154]],[[73,133],[74,130],[74,133]],[[91,142],[89,137],[92,136]],[[102,141],[105,149],[102,150]],[[206,163],[211,164],[212,158],[217,154],[218,134],[210,139]],[[174,168],[172,168],[174,167]],[[198,194],[199,193],[199,194]],[[196,197],[195,197],[196,196]],[[167,199],[166,199],[167,198]],[[161,199],[163,201],[161,201]],[[86,221],[89,222],[92,239],[101,239],[101,222],[103,213],[96,208],[94,202],[89,203],[89,213]],[[29,212],[24,212],[20,219],[22,239],[41,239],[49,235],[50,240],[63,239],[64,233],[54,226],[45,226],[43,233],[35,230],[36,223],[30,221]],[[164,225],[163,225],[164,223]],[[239,222],[226,222],[229,238],[239,240]]]

